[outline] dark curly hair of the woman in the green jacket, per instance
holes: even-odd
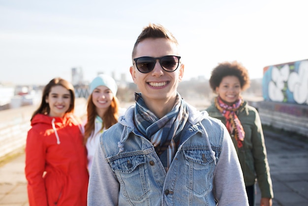
[[[237,61],[223,62],[218,64],[218,66],[212,70],[210,86],[214,92],[225,76],[238,77],[241,83],[241,89],[243,91],[250,86],[248,71],[242,64]]]

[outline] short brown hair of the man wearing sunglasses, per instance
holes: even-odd
[[[132,51],[132,58],[134,58],[134,55],[136,54],[136,47],[137,45],[146,38],[166,38],[172,42],[174,42],[176,45],[179,45],[178,40],[174,37],[174,35],[169,32],[166,28],[161,26],[160,24],[149,24],[149,26],[144,27],[141,34],[139,34],[133,51]]]

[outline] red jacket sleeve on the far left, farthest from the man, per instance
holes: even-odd
[[[45,170],[46,148],[42,137],[30,129],[26,142],[25,174],[28,180],[28,198],[31,206],[47,206],[47,195],[43,172]]]

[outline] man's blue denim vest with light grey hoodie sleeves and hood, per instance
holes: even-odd
[[[188,105],[188,104],[187,104]],[[88,206],[248,206],[241,166],[226,127],[188,105],[188,120],[166,172],[134,126],[134,106],[100,136]]]

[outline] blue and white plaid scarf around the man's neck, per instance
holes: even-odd
[[[168,172],[177,149],[176,142],[188,119],[186,103],[178,93],[172,110],[158,119],[148,109],[140,93],[135,93],[135,100],[135,125],[138,131],[154,145],[156,154]]]

